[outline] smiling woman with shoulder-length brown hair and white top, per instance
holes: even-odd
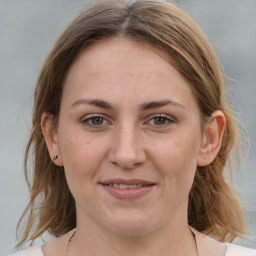
[[[212,47],[175,5],[82,12],[42,68],[25,157],[19,245],[58,239],[17,255],[256,255],[223,243],[246,233],[223,175],[239,146],[223,91]]]

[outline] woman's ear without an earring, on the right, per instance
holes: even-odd
[[[224,113],[220,110],[214,111],[210,121],[205,126],[197,159],[198,166],[206,166],[214,161],[221,147],[225,127],[226,118]]]

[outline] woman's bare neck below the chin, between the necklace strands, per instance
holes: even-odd
[[[152,233],[131,236],[77,227],[69,248],[70,256],[193,256],[197,255],[195,240],[187,224],[172,223]],[[87,232],[84,232],[87,230]],[[97,245],[97,246],[95,246]]]

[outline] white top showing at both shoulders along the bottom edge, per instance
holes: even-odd
[[[226,243],[225,245],[227,247],[225,256],[256,256],[256,250],[228,243]],[[44,254],[41,246],[35,246],[30,249],[17,252],[10,256],[44,256]]]

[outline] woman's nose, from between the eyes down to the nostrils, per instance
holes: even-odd
[[[142,137],[136,127],[123,126],[115,131],[109,160],[121,169],[134,169],[146,161]]]

